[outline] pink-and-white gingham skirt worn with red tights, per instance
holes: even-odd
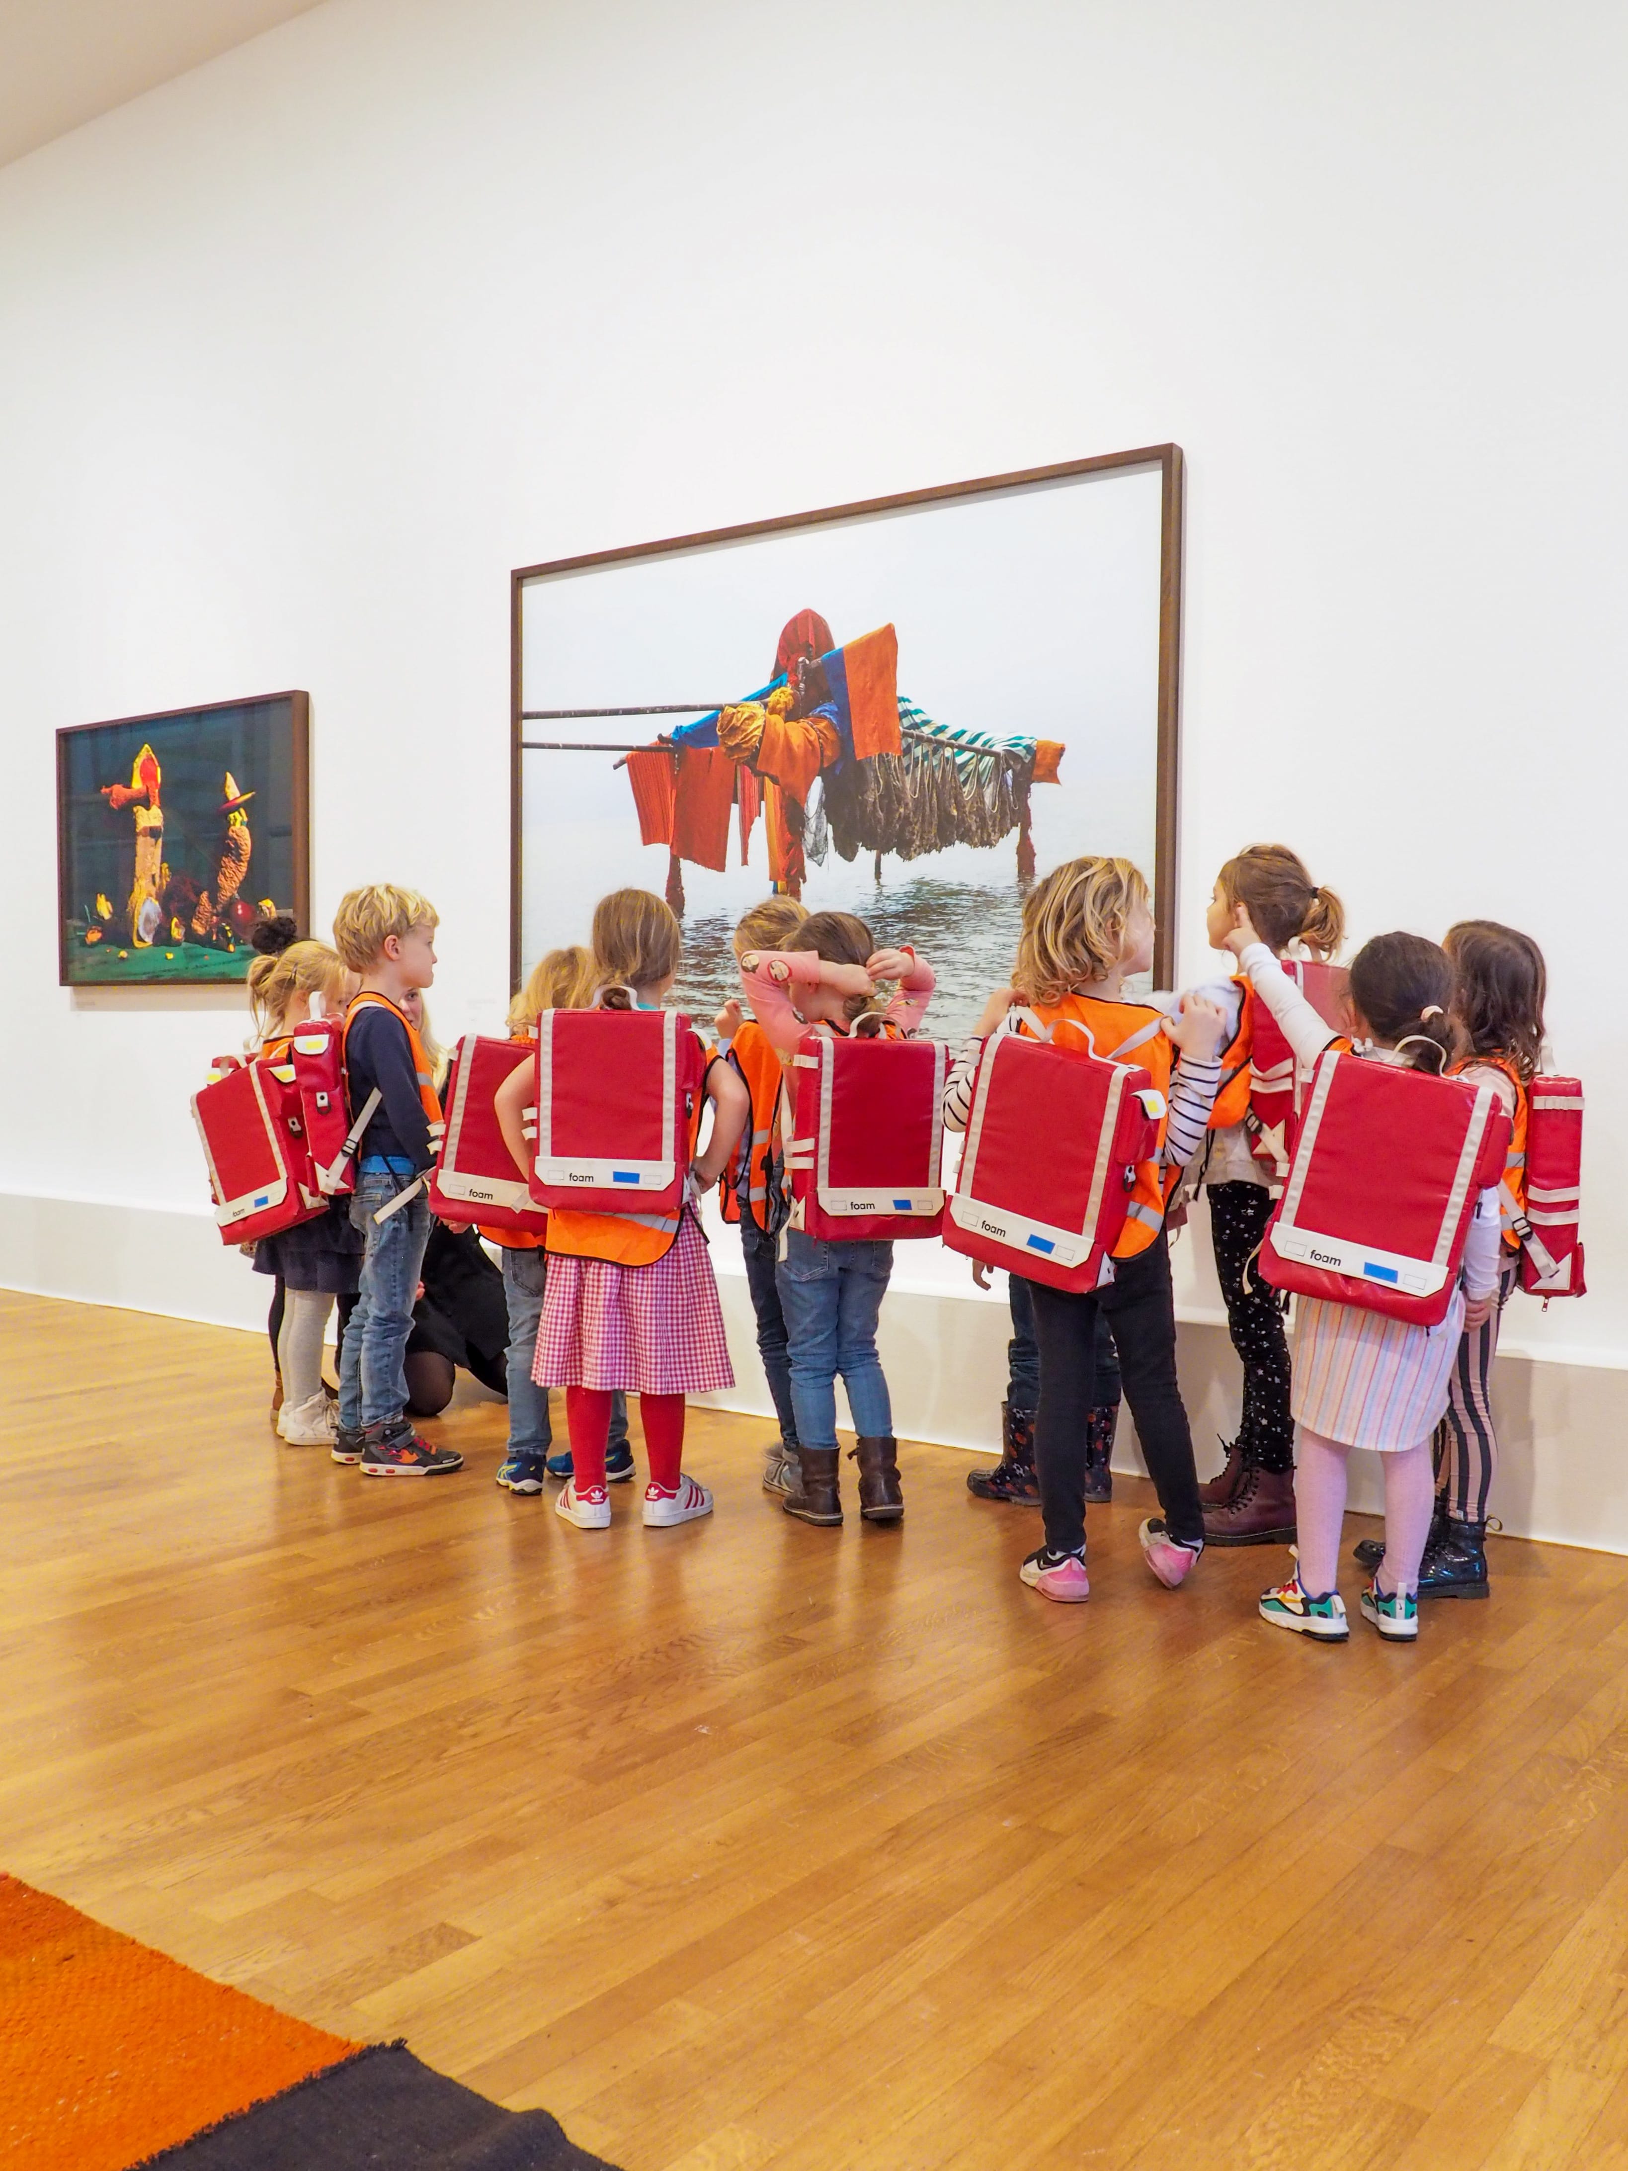
[[[538,1387],[716,1394],[734,1387],[718,1285],[686,1211],[664,1259],[614,1266],[549,1253],[532,1379]]]

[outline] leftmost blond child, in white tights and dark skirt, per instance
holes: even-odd
[[[263,921],[250,942],[260,953],[247,970],[256,1053],[280,1062],[300,1027],[336,1010],[347,992],[345,966],[326,942],[295,942],[293,921]],[[295,1222],[254,1246],[254,1272],[276,1274],[276,1361],[282,1407],[278,1435],[291,1448],[332,1448],[334,1413],[321,1383],[321,1344],[334,1298],[356,1292],[363,1242],[349,1224],[349,1201],[332,1198],[315,1220]]]

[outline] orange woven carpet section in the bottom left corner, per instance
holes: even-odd
[[[130,2171],[358,2049],[0,1876],[7,2171]]]

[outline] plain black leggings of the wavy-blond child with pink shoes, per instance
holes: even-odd
[[[1170,1294],[1170,1246],[1163,1229],[1148,1250],[1120,1259],[1103,1290],[1072,1296],[1029,1285],[1040,1342],[1040,1415],[1035,1470],[1046,1546],[1077,1552],[1085,1544],[1085,1413],[1103,1400],[1096,1387],[1096,1322],[1103,1313],[1120,1353],[1124,1400],[1135,1437],[1172,1537],[1200,1544],[1205,1511],[1192,1461],[1187,1411],[1177,1385],[1177,1305]]]

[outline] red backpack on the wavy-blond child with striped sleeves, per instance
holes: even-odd
[[[1159,1151],[1163,1094],[1031,1020],[983,1042],[944,1242],[1053,1290],[1094,1290],[1124,1229],[1135,1168]]]

